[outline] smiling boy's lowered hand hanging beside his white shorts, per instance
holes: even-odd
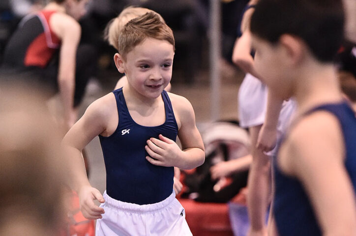
[[[101,214],[104,214],[104,209],[95,205],[94,200],[104,203],[105,200],[100,191],[91,186],[83,186],[79,193],[80,210],[84,217],[89,220],[101,219]]]

